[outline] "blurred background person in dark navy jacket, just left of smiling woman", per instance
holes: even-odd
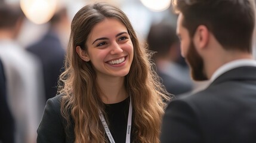
[[[66,45],[61,42],[60,35],[64,30],[70,29],[69,26],[67,9],[62,7],[49,21],[47,33],[39,41],[26,48],[42,63],[45,102],[57,94],[57,81],[61,74],[61,67],[64,65],[64,49],[66,49]]]

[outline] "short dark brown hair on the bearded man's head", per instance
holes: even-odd
[[[205,25],[226,49],[252,52],[255,24],[251,0],[172,0],[174,10],[183,14],[182,25],[193,37]]]

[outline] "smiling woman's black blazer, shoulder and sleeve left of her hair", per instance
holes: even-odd
[[[66,129],[66,120],[60,113],[60,100],[61,95],[57,95],[47,101],[42,121],[37,130],[37,143],[73,143],[75,141],[73,121],[71,120],[70,128]]]

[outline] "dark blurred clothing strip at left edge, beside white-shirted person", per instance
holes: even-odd
[[[14,119],[7,104],[4,66],[0,60],[0,142],[14,142]]]

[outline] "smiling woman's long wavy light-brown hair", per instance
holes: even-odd
[[[65,71],[61,74],[59,94],[61,114],[70,126],[72,118],[75,142],[107,142],[98,110],[104,111],[100,98],[101,90],[96,83],[96,73],[91,62],[83,61],[76,53],[76,46],[87,50],[85,44],[95,24],[105,18],[121,21],[128,30],[134,45],[134,59],[131,69],[125,76],[125,88],[131,95],[133,106],[133,128],[135,142],[160,142],[161,120],[169,100],[169,94],[159,82],[149,60],[150,53],[141,48],[128,17],[119,8],[98,2],[86,5],[76,13],[72,20],[69,45],[65,61]],[[71,116],[70,116],[71,114]]]

